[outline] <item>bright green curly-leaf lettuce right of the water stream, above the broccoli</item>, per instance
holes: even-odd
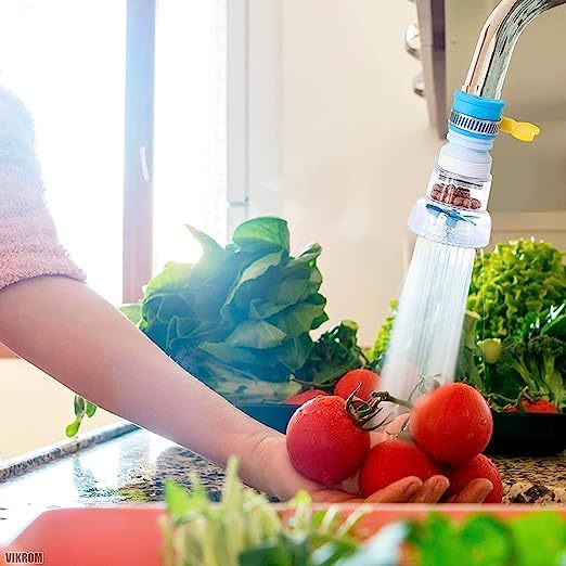
[[[552,245],[532,237],[498,244],[493,252],[478,256],[467,307],[481,316],[484,337],[511,336],[530,312],[564,300],[563,256]]]

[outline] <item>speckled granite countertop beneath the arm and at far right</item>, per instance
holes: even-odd
[[[566,456],[496,458],[506,503],[566,505]],[[99,429],[0,464],[0,544],[46,509],[163,501],[167,478],[197,472],[213,499],[217,465],[131,424]]]

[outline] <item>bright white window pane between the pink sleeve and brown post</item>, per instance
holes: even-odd
[[[125,0],[2,0],[0,83],[31,112],[60,239],[121,300]]]

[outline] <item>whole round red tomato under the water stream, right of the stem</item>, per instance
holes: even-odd
[[[488,446],[493,419],[479,391],[463,383],[452,383],[421,397],[409,426],[414,441],[432,458],[458,466]]]

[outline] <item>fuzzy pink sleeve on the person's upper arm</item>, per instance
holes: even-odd
[[[29,115],[0,88],[0,288],[39,275],[85,280],[48,213]]]

